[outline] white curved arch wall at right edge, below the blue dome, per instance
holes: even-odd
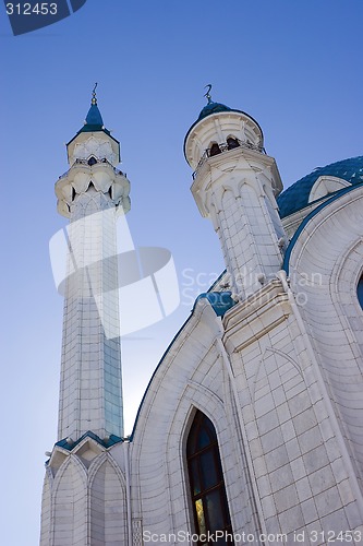
[[[350,472],[363,492],[363,311],[356,286],[363,271],[362,188],[326,206],[304,228],[290,258],[291,285],[300,293]],[[306,282],[307,280],[307,282]]]

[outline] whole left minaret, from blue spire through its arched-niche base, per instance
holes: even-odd
[[[56,183],[58,211],[70,224],[59,432],[46,453],[40,546],[123,546],[130,529],[116,241],[130,183],[116,168],[120,144],[105,129],[95,91],[84,127],[66,145],[70,169]]]

